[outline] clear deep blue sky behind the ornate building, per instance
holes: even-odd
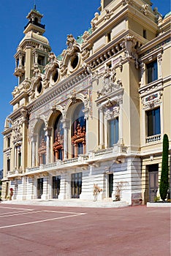
[[[44,15],[45,37],[50,42],[52,51],[56,55],[66,48],[67,34],[74,37],[83,34],[91,27],[91,19],[100,6],[100,0],[35,0],[37,10]],[[170,0],[153,0],[153,7],[165,15],[170,12]],[[0,1],[0,170],[2,169],[2,151],[5,118],[12,112],[9,102],[12,91],[18,85],[13,74],[18,43],[23,38],[23,27],[28,20],[26,15],[34,7],[34,0],[1,0]]]

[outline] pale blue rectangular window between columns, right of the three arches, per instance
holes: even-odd
[[[108,146],[118,143],[118,117],[108,121]]]

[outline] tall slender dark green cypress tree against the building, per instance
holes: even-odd
[[[162,200],[167,198],[167,192],[169,189],[169,139],[165,134],[163,137],[163,154],[162,154],[162,166],[161,166],[161,180],[160,180],[160,197]]]

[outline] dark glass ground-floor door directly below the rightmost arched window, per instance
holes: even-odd
[[[72,173],[72,198],[80,198],[82,190],[82,173]]]

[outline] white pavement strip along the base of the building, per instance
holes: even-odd
[[[88,208],[122,208],[129,206],[128,203],[120,201],[90,201],[80,199],[58,200],[58,199],[34,199],[34,200],[4,200],[1,203],[31,205],[31,206],[68,206],[68,207],[88,207]]]

